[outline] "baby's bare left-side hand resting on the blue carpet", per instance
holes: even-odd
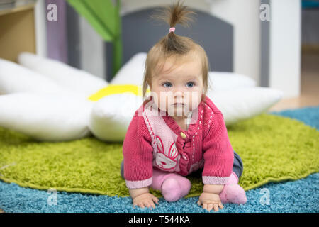
[[[133,206],[140,206],[141,208],[152,206],[152,208],[155,208],[154,202],[158,204],[157,197],[150,194],[148,187],[130,189],[130,196],[133,199]]]

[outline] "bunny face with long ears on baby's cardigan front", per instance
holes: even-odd
[[[173,142],[169,149],[164,149],[163,142],[159,136],[156,136],[157,150],[155,154],[156,165],[163,170],[172,170],[177,166],[177,160],[179,159],[179,152]]]

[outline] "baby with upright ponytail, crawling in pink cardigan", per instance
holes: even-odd
[[[208,59],[200,45],[174,33],[177,23],[187,25],[186,6],[177,3],[164,11],[169,33],[148,52],[143,96],[150,96],[135,111],[123,142],[121,175],[133,206],[153,207],[186,196],[191,182],[186,175],[202,169],[203,193],[198,205],[218,211],[223,204],[245,204],[238,185],[242,160],[230,145],[223,114],[206,96]]]

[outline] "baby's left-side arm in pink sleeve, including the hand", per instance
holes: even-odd
[[[125,184],[133,200],[133,206],[142,208],[158,204],[158,199],[150,194],[152,184],[152,138],[143,116],[135,111],[123,142],[123,173]]]

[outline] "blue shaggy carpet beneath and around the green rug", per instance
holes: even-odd
[[[272,114],[295,118],[319,130],[319,106],[272,112]],[[269,183],[247,191],[247,204],[225,204],[224,209],[219,212],[318,213],[318,189],[319,173],[294,182]],[[206,213],[206,210],[196,204],[197,201],[198,197],[193,197],[169,203],[161,198],[156,209],[133,209],[130,197],[120,198],[118,196],[67,192],[52,194],[46,191],[19,187],[14,183],[0,182],[0,208],[5,212]]]

